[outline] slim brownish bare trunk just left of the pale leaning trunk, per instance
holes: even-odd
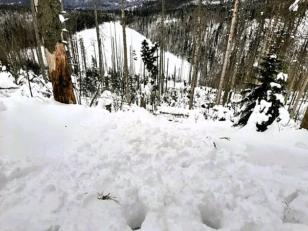
[[[197,39],[196,39],[196,45],[195,45],[193,77],[192,77],[192,83],[191,83],[191,89],[190,89],[190,100],[189,100],[190,110],[192,109],[193,102],[194,102],[194,92],[195,92],[195,82],[196,82],[195,78],[196,78],[196,73],[197,73],[197,59],[198,59],[198,51],[199,51],[199,36],[200,36],[200,24],[201,24],[201,5],[202,5],[202,0],[199,0]]]

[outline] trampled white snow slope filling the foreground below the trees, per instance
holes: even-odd
[[[308,131],[229,123],[1,98],[0,231],[308,231]]]

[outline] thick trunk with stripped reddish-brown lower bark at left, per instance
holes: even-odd
[[[44,48],[52,82],[54,98],[60,103],[76,104],[73,84],[66,57],[66,48],[61,41],[62,26],[59,20],[59,0],[38,1],[38,23],[44,40]]]

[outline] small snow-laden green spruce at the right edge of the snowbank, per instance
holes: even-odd
[[[256,69],[261,83],[254,85],[253,89],[243,91],[246,94],[241,101],[244,105],[237,114],[234,126],[243,127],[248,122],[254,122],[256,130],[264,132],[268,125],[282,119],[280,109],[284,108],[287,78],[281,72],[282,69],[282,61],[275,54],[264,57],[261,67]],[[285,111],[281,116],[286,117]]]

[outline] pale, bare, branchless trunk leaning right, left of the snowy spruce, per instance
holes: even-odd
[[[229,39],[228,39],[228,44],[227,44],[227,50],[226,50],[226,54],[224,56],[224,62],[223,62],[223,67],[222,67],[222,72],[221,72],[221,77],[220,77],[220,84],[219,84],[217,98],[216,98],[216,105],[219,105],[219,103],[220,103],[220,97],[221,97],[224,77],[225,77],[226,69],[227,69],[227,65],[228,65],[230,47],[231,47],[231,42],[232,42],[232,38],[233,38],[233,32],[234,32],[234,26],[235,26],[236,13],[238,11],[238,6],[239,6],[239,0],[235,0],[233,17],[232,17],[232,22],[231,22],[231,27],[230,27],[230,34],[229,34]]]

